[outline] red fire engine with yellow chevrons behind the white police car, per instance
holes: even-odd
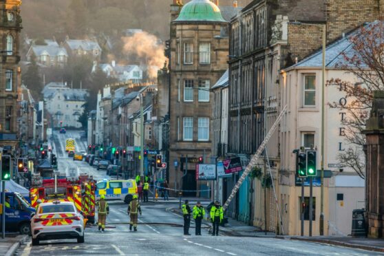
[[[76,209],[83,213],[87,222],[95,220],[96,182],[92,177],[81,174],[76,178],[43,179],[35,174],[30,189],[32,207],[36,208],[37,200],[41,202],[73,202]]]

